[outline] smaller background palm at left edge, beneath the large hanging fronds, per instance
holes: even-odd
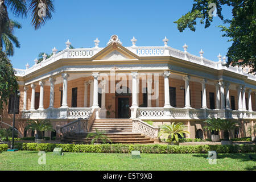
[[[14,36],[14,28],[22,28],[22,26],[20,23],[14,20],[9,20],[9,22],[5,24],[2,32],[2,37],[0,39],[2,46],[5,47],[5,52],[7,56],[14,55],[13,43],[15,44],[15,47],[20,47],[18,38]]]

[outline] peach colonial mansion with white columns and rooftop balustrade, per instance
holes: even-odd
[[[187,126],[187,138],[209,138],[203,129],[207,118],[234,119],[241,123],[230,137],[245,137],[256,122],[256,76],[240,67],[226,67],[226,57],[211,61],[168,46],[139,47],[131,39],[123,47],[112,35],[106,47],[66,48],[26,69],[15,69],[19,97],[15,127],[20,135],[30,119],[49,119],[57,137],[67,133],[106,131],[142,134],[151,140],[159,127],[172,122]],[[217,55],[217,54],[216,54]],[[11,125],[14,97],[3,111],[2,122]],[[152,125],[148,121],[152,121]],[[53,133],[53,132],[52,132]],[[51,132],[45,136],[50,137]],[[117,140],[118,141],[118,140]],[[134,140],[131,143],[136,143]]]

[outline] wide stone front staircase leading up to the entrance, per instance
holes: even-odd
[[[154,143],[154,139],[140,133],[132,133],[133,121],[131,119],[95,119],[90,133],[105,131],[106,136],[112,143]],[[86,139],[88,133],[68,133],[61,140],[64,143],[90,143],[91,139]]]

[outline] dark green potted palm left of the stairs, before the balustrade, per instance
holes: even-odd
[[[49,119],[44,119],[40,121],[39,119],[28,121],[26,130],[36,130],[36,143],[46,143],[46,139],[43,136],[43,131],[53,131],[51,122]]]

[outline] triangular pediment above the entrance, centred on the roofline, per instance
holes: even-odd
[[[112,43],[98,52],[93,60],[138,60],[139,57],[121,44]]]

